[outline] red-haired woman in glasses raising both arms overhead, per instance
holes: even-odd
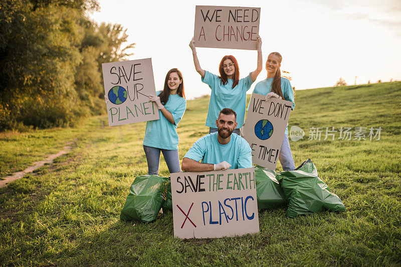
[[[224,56],[220,62],[220,76],[204,71],[199,64],[196,56],[195,41],[189,43],[192,50],[193,64],[197,73],[202,76],[202,82],[209,85],[212,89],[210,96],[208,117],[206,126],[210,127],[209,133],[217,132],[216,120],[219,112],[224,108],[231,108],[237,113],[238,126],[233,132],[240,134],[240,128],[245,121],[245,105],[247,100],[247,91],[255,82],[259,73],[262,71],[262,40],[258,36],[257,50],[258,63],[255,71],[251,72],[246,78],[240,79],[240,68],[237,60],[233,56]]]

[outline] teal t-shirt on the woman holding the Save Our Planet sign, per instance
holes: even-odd
[[[158,91],[157,95],[160,93],[161,91]],[[160,119],[146,122],[143,145],[175,150],[178,149],[178,134],[176,129],[184,115],[186,100],[178,94],[170,95],[164,107],[172,114],[175,124],[169,122],[159,110]]]

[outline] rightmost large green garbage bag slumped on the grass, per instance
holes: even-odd
[[[331,193],[327,184],[317,176],[316,167],[310,159],[293,171],[278,173],[276,178],[288,200],[288,217],[324,210],[346,210],[341,199]]]

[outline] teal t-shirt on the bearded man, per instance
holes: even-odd
[[[218,132],[211,133],[196,140],[184,158],[202,160],[202,163],[209,164],[227,161],[231,165],[230,169],[252,167],[251,147],[244,138],[232,134],[230,142],[222,145],[217,140],[218,134]]]

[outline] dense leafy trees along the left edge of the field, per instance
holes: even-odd
[[[126,59],[119,24],[97,24],[96,0],[0,3],[0,131],[73,126],[105,112],[101,64]]]

